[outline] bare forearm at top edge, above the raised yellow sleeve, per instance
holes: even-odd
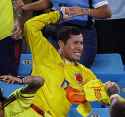
[[[37,11],[45,10],[49,7],[49,2],[47,0],[39,0],[33,3],[28,3],[22,6],[24,11]]]

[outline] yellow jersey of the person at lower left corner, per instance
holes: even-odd
[[[17,99],[5,107],[5,117],[41,117],[30,107],[35,94],[23,94],[20,90],[13,93]]]

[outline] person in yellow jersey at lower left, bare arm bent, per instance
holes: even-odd
[[[0,76],[0,80],[26,85],[15,90],[8,99],[4,99],[0,90],[0,117],[41,117],[43,112],[34,111],[37,108],[32,104],[32,99],[36,91],[43,86],[43,78],[27,76],[20,79],[11,75],[3,75]]]

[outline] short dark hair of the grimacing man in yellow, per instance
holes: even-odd
[[[71,35],[79,35],[82,34],[80,28],[76,26],[62,26],[58,29],[57,39],[62,40],[64,43],[70,38]]]

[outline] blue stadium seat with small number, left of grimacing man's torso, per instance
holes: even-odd
[[[19,76],[29,75],[32,71],[32,55],[30,53],[22,53],[20,55],[20,63],[18,69]]]

